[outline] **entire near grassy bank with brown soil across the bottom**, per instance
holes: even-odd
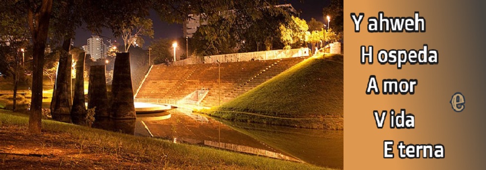
[[[26,115],[0,110],[0,167],[6,169],[323,169],[303,163],[43,120],[26,133]]]

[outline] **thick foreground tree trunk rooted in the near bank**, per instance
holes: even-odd
[[[29,132],[40,134],[42,129],[42,77],[44,70],[44,51],[46,49],[49,21],[51,20],[53,0],[42,0],[38,11],[34,13],[29,6],[29,27],[32,33],[32,101],[29,116]],[[33,20],[30,20],[33,19]]]

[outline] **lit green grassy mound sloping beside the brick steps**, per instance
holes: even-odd
[[[343,72],[342,55],[316,55],[205,112],[228,120],[343,129]]]

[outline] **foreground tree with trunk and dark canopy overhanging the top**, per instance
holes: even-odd
[[[211,16],[229,10],[249,14],[249,18],[255,20],[262,16],[262,8],[277,3],[278,0],[3,0],[0,3],[0,11],[17,13],[7,13],[2,17],[25,19],[21,24],[28,25],[29,32],[26,35],[32,43],[32,105],[29,131],[37,134],[41,132],[46,45],[57,44],[56,41],[62,40],[63,49],[68,51],[74,30],[82,23],[95,34],[99,34],[102,28],[108,28],[115,37],[119,37],[123,34],[124,25],[135,25],[137,22],[127,18],[146,18],[151,9],[155,10],[162,20],[168,22],[180,23],[188,18],[188,14],[205,13],[206,16]],[[51,38],[48,41],[49,35]]]

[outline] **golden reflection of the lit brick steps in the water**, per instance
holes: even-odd
[[[177,139],[178,143],[204,145],[204,141],[214,141],[278,151],[206,115],[192,113],[192,110],[175,109],[168,111],[168,113],[170,113],[169,119],[146,120],[138,118],[136,134],[149,136],[149,133],[151,133],[157,138],[171,141]],[[147,127],[146,129],[139,128],[143,124]]]

